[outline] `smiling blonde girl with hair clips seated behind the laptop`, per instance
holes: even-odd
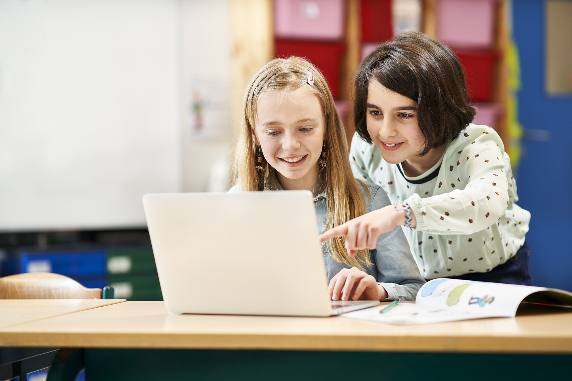
[[[380,187],[353,178],[347,153],[320,71],[302,58],[273,59],[244,93],[231,191],[309,190],[324,232],[390,204]],[[280,216],[276,228],[296,234],[296,226],[280,225]],[[400,228],[353,256],[343,238],[332,239],[323,245],[323,258],[333,300],[414,300],[424,283]]]

